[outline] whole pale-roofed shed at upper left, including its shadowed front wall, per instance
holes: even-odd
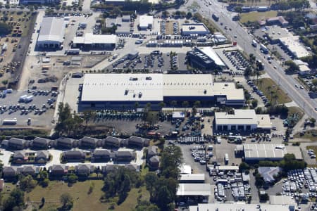
[[[63,18],[44,17],[37,37],[37,47],[59,49],[64,41],[66,24]]]

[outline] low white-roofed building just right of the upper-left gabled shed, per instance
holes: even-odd
[[[86,33],[83,37],[74,37],[74,48],[96,48],[114,49],[116,47],[117,36],[113,34],[92,34]]]

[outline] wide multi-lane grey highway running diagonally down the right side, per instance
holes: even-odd
[[[317,107],[316,100],[309,97],[307,90],[295,87],[295,84],[299,84],[299,82],[297,82],[292,75],[285,75],[279,61],[273,60],[271,64],[268,63],[268,60],[264,58],[265,54],[261,53],[259,46],[254,48],[251,45],[253,38],[248,34],[247,30],[245,30],[239,23],[232,21],[232,17],[235,16],[235,13],[227,11],[225,4],[219,3],[216,0],[211,0],[211,6],[206,6],[205,0],[197,0],[196,2],[200,6],[199,12],[204,18],[211,19],[213,13],[218,14],[220,18],[218,22],[215,23],[221,30],[223,30],[223,33],[232,41],[237,41],[238,46],[240,46],[241,49],[244,49],[245,52],[248,54],[253,53],[256,58],[262,60],[266,72],[275,83],[280,85],[280,88],[305,111],[306,115],[317,118],[317,111],[315,110]],[[190,4],[192,4],[192,1],[187,3],[187,5]],[[220,25],[220,23],[223,23],[223,25]],[[225,26],[228,27],[228,30],[224,29]],[[230,28],[231,30],[229,30]],[[234,38],[235,35],[237,38]],[[276,66],[276,69],[274,66]]]

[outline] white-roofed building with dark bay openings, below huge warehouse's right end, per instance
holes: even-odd
[[[218,131],[253,131],[255,129],[270,130],[269,115],[257,115],[255,110],[236,109],[233,113],[216,112],[215,125]]]

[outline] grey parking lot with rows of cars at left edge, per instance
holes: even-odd
[[[2,94],[2,98],[0,98],[2,124],[4,124],[4,120],[16,119],[18,126],[50,127],[54,114],[56,91],[13,91],[10,94],[6,94],[6,97],[3,96]],[[19,101],[21,96],[27,96],[32,99],[28,102]]]

